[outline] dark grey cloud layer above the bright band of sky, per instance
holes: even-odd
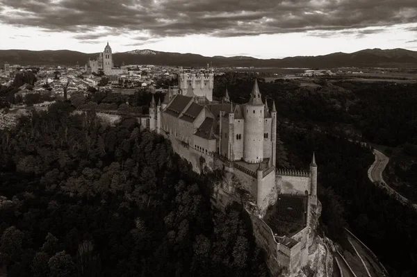
[[[81,41],[133,31],[147,33],[141,41],[300,32],[361,37],[417,22],[414,0],[0,0],[0,7],[3,24],[75,33]]]

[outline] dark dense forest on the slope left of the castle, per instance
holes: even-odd
[[[248,215],[134,119],[103,126],[69,101],[0,131],[7,276],[268,276]]]

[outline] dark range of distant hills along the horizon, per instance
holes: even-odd
[[[18,65],[85,65],[98,53],[81,53],[70,50],[0,50],[0,65],[4,62]],[[296,56],[282,59],[258,59],[247,56],[205,57],[193,53],[170,53],[149,49],[114,53],[115,65],[177,65],[184,67],[416,67],[417,52],[406,49],[365,49],[354,53],[331,53],[325,56]]]

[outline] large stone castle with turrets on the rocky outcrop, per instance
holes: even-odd
[[[163,103],[152,96],[149,124],[172,142],[197,172],[224,169],[249,194],[256,243],[268,255],[272,274],[285,268],[294,276],[309,260],[317,215],[317,165],[309,171],[277,169],[277,110],[261,99],[257,81],[245,104],[212,101],[213,74],[179,74],[179,87],[169,88]],[[220,187],[222,201],[236,187]]]

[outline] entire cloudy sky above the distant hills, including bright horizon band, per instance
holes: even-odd
[[[286,56],[417,51],[417,0],[0,0],[0,49]]]

